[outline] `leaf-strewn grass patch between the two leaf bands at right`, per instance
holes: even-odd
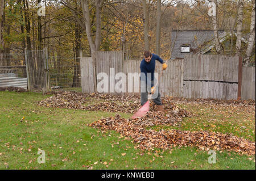
[[[195,115],[184,117],[182,123],[176,127],[158,125],[151,129],[180,129],[183,131],[211,131],[232,133],[235,136],[255,141],[255,112],[246,108],[214,107],[202,104],[177,105]]]

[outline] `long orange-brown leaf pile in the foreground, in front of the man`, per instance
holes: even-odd
[[[155,114],[155,113],[154,113]],[[158,116],[161,113],[158,112]],[[171,130],[147,130],[148,125],[175,124],[176,121],[171,118],[169,121],[160,121],[160,119],[150,119],[152,112],[142,118],[124,119],[119,115],[110,118],[102,118],[88,126],[100,128],[105,131],[114,130],[122,136],[132,138],[140,149],[170,149],[176,146],[197,146],[202,150],[228,150],[236,151],[242,154],[255,154],[255,142],[233,136],[232,134],[223,134],[209,131],[191,132]],[[158,117],[156,116],[156,117]]]

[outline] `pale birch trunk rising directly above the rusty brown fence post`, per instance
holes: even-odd
[[[241,54],[241,39],[242,39],[242,23],[243,23],[243,0],[238,2],[238,17],[237,17],[237,42],[236,55]]]

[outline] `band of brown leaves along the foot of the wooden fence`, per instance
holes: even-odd
[[[124,113],[135,113],[141,107],[139,95],[118,96],[73,91],[51,91],[44,94],[53,94],[53,96],[39,102],[40,106]],[[92,99],[100,103],[90,104]],[[184,99],[166,96],[162,98],[162,102],[167,110],[175,110],[176,104],[207,104],[211,107],[250,107],[250,110],[255,112],[255,100]],[[87,103],[89,104],[85,106],[84,104]],[[155,110],[153,105],[151,110]]]

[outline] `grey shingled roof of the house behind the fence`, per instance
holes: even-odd
[[[218,30],[219,39],[225,37],[224,30]],[[200,47],[214,38],[213,30],[172,30],[171,59],[184,58],[186,54],[195,54],[200,52]],[[189,44],[191,46],[190,53],[181,53],[181,45]]]

